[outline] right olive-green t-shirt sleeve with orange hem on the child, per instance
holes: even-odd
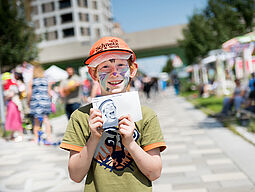
[[[166,149],[164,137],[160,128],[157,115],[150,110],[144,117],[141,146],[145,151],[154,148],[160,148],[160,151]]]

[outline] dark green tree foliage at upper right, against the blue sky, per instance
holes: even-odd
[[[184,39],[179,41],[189,64],[220,49],[227,40],[252,31],[254,16],[255,0],[209,0],[204,10],[189,18]]]

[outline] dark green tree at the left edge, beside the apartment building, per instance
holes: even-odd
[[[10,70],[38,55],[33,28],[26,21],[24,4],[0,0],[0,65]]]

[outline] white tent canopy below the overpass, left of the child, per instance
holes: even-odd
[[[47,70],[45,70],[45,76],[48,78],[49,82],[58,82],[67,79],[68,74],[65,70],[52,65]]]

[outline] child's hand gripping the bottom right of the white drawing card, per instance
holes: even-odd
[[[134,141],[133,139],[134,130],[135,123],[131,119],[130,115],[123,115],[119,118],[119,131],[124,146],[127,146],[132,141]]]

